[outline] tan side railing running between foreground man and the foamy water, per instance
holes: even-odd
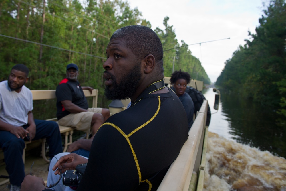
[[[196,119],[189,131],[187,141],[184,143],[177,159],[171,164],[168,172],[162,180],[157,191],[187,191],[193,172],[198,173],[198,186],[202,188],[204,179],[205,157],[202,158],[203,147],[206,152],[206,143],[204,145],[206,127],[206,115],[208,102],[204,100],[200,111],[197,112]],[[207,136],[207,134],[206,134]],[[207,141],[207,139],[206,139]],[[202,162],[202,163],[201,163]]]

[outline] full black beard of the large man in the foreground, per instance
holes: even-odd
[[[140,69],[140,63],[136,63],[128,74],[122,76],[122,81],[119,84],[116,83],[114,75],[110,74],[107,70],[104,71],[113,82],[112,87],[105,86],[105,97],[109,100],[127,99],[131,97],[135,93],[142,77]]]

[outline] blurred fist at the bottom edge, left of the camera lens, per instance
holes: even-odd
[[[43,178],[35,177],[32,175],[27,175],[21,184],[21,191],[42,191],[44,190],[45,182]]]

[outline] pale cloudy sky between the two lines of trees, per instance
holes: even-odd
[[[255,33],[263,10],[262,0],[125,0],[142,12],[152,29],[165,30],[164,17],[172,25],[180,43],[184,40],[192,55],[200,60],[211,82],[215,82],[239,45]]]

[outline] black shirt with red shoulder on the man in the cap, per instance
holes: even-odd
[[[70,100],[78,107],[88,109],[88,102],[78,81],[68,80],[67,78],[61,80],[55,94],[57,96],[57,119],[70,114],[61,103],[64,100]]]

